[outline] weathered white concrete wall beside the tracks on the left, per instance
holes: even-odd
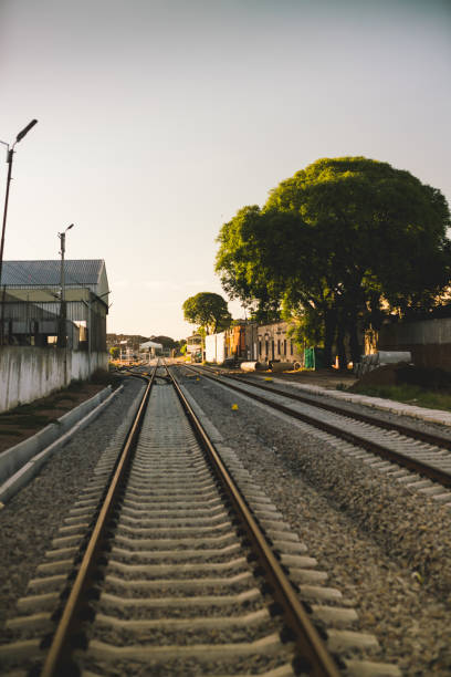
[[[91,373],[108,368],[107,353],[91,355]],[[0,347],[0,412],[45,397],[88,376],[87,353],[64,348]]]

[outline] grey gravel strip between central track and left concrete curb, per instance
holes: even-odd
[[[143,382],[125,378],[124,389],[90,426],[51,458],[0,512],[0,631],[49,550],[63,518],[86,485],[117,426],[136,402]]]

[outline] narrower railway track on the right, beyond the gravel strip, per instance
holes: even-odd
[[[187,368],[349,442],[342,447],[345,452],[371,462],[381,472],[392,473],[398,481],[451,507],[451,445],[447,436],[390,424],[374,415],[354,413],[349,408],[344,410],[337,405],[272,386],[244,383],[242,378],[219,375],[214,369]],[[375,457],[379,461],[375,462]]]

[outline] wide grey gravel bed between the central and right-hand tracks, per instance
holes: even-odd
[[[355,601],[380,659],[406,675],[451,673],[451,512],[206,379],[183,384],[306,543]],[[238,409],[232,410],[232,404]]]

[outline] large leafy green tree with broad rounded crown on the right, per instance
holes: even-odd
[[[238,298],[266,293],[321,326],[331,360],[359,355],[358,326],[382,308],[407,315],[437,304],[450,280],[450,212],[442,194],[364,157],[325,158],[241,209],[219,235],[217,270]]]

